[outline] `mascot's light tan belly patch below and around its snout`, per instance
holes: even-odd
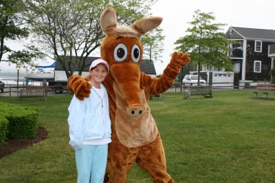
[[[145,98],[144,90],[140,90],[140,102],[144,106],[144,111],[140,116],[129,116],[126,112],[126,104],[118,86],[114,83],[115,91],[115,132],[120,143],[126,147],[141,147],[153,142],[157,137],[157,127],[151,115],[151,109]]]

